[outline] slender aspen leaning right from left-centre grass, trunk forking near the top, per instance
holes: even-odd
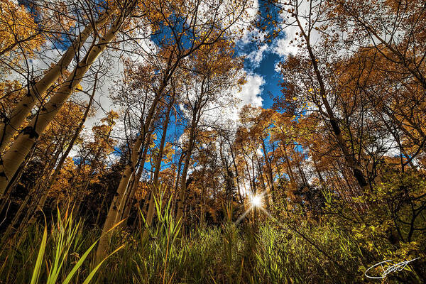
[[[140,166],[140,158],[143,155],[143,149],[146,147],[148,131],[151,129],[151,124],[153,124],[153,117],[157,110],[158,102],[164,96],[165,88],[168,86],[175,70],[177,70],[182,60],[196,50],[203,46],[214,45],[214,43],[220,40],[246,9],[246,1],[238,1],[234,6],[228,6],[222,2],[215,3],[209,6],[209,11],[212,13],[204,15],[207,18],[210,17],[210,21],[206,23],[205,19],[202,19],[196,12],[202,2],[190,3],[188,6],[168,6],[170,3],[167,1],[160,3],[152,1],[147,4],[148,6],[145,8],[149,9],[148,16],[155,18],[154,28],[157,29],[158,23],[161,23],[166,30],[170,31],[170,36],[167,35],[169,38],[166,37],[166,39],[163,38],[163,40],[160,40],[161,47],[168,49],[170,55],[167,58],[167,66],[162,72],[159,87],[154,91],[151,109],[148,111],[148,115],[144,120],[141,133],[131,148],[131,158],[121,177],[119,187],[116,190],[116,195],[114,195],[103,226],[104,233],[109,231],[115,224],[121,202],[125,200],[126,191],[129,190],[129,181],[135,175],[138,166]],[[177,9],[177,11],[170,11],[169,9]],[[232,12],[223,13],[226,9],[231,9]],[[172,15],[175,13],[180,14],[180,17],[173,18]],[[109,235],[102,234],[97,248],[97,261],[101,261],[106,256],[108,242]]]

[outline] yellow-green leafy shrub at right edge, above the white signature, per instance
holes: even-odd
[[[422,173],[407,170],[400,173],[385,168],[381,185],[347,203],[334,196],[327,199],[322,219],[347,241],[340,247],[345,253],[359,252],[359,271],[376,263],[392,260],[393,263],[418,258],[398,275],[387,280],[422,283],[425,275],[425,204],[426,185]]]

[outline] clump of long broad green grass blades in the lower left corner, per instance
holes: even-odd
[[[2,266],[3,273],[0,277],[0,283],[28,283],[30,271],[33,271],[31,284],[80,283],[79,276],[82,271],[83,275],[88,273],[83,283],[90,283],[102,263],[123,248],[123,246],[120,246],[97,266],[90,269],[86,259],[97,245],[98,239],[93,241],[92,245],[80,256],[79,251],[83,251],[85,233],[82,230],[82,222],[75,222],[72,209],[66,207],[63,212],[60,212],[58,208],[57,221],[52,224],[50,236],[48,236],[47,222],[45,224],[40,243],[41,230],[39,226],[31,226],[21,237],[21,240],[17,241],[16,244],[9,244],[10,248],[1,253],[1,258],[4,258],[4,265]],[[37,247],[39,249],[35,258],[34,248]],[[24,254],[27,252],[28,254]],[[75,261],[72,261],[73,258]],[[22,267],[22,269],[16,271],[16,267]]]

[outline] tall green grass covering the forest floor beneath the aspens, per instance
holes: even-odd
[[[99,229],[58,210],[50,227],[33,224],[2,244],[0,283],[366,283],[365,269],[386,257],[330,224],[227,221],[183,232],[170,200],[156,205],[148,234],[114,230],[110,254],[98,264]],[[388,283],[416,279],[396,274]]]

